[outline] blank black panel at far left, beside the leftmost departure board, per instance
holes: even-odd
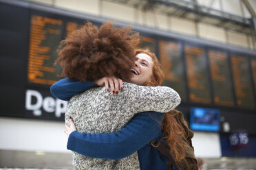
[[[23,117],[29,20],[28,9],[0,3],[0,116]]]

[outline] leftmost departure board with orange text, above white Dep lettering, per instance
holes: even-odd
[[[30,21],[28,82],[52,85],[61,69],[54,66],[56,49],[61,42],[63,21],[33,14]]]

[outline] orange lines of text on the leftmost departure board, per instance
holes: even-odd
[[[32,15],[30,25],[30,49],[28,58],[28,81],[36,84],[53,84],[56,80],[45,79],[45,73],[54,73],[53,66],[45,66],[45,61],[50,60],[50,51],[56,50],[43,45],[47,35],[61,35],[60,29],[46,27],[46,25],[62,25],[63,21],[51,19],[46,16]]]

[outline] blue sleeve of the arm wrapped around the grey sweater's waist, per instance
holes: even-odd
[[[120,159],[133,154],[160,134],[163,114],[143,112],[136,114],[119,132],[85,134],[72,132],[67,149],[91,158]]]

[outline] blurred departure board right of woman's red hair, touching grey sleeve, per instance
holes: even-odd
[[[182,100],[186,99],[186,85],[184,82],[184,65],[182,62],[182,46],[179,42],[160,40],[159,56],[164,72],[163,86],[176,90]]]

